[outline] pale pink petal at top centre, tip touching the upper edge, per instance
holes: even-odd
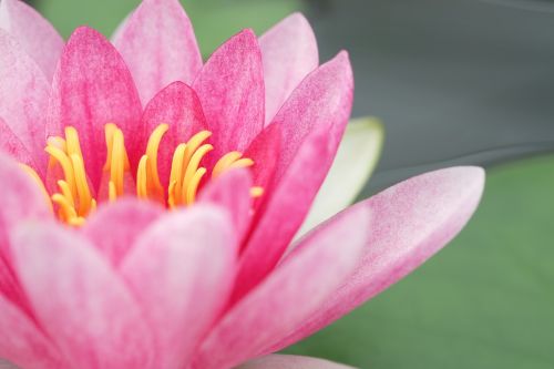
[[[202,69],[193,25],[177,0],[144,0],[117,32],[114,44],[143,104],[171,82],[192,83]]]

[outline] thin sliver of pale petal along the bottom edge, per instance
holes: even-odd
[[[352,369],[340,363],[294,355],[269,355],[237,369]]]

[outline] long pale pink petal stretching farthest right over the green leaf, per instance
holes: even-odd
[[[294,334],[264,352],[321,329],[425,262],[462,229],[479,204],[483,185],[484,172],[479,167],[430,172],[352,206],[308,234],[325,232],[335,222],[353,222],[360,208],[373,214],[356,271]]]

